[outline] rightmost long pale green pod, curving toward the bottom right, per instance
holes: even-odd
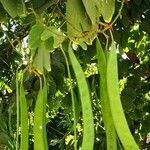
[[[114,43],[111,45],[107,65],[107,90],[111,106],[112,117],[119,139],[125,149],[138,150],[138,146],[129,130],[122,104],[118,85],[117,53]]]

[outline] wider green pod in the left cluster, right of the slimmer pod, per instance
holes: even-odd
[[[45,82],[44,82],[45,83]],[[46,97],[45,84],[42,87],[40,78],[40,90],[37,96],[35,110],[34,110],[34,150],[47,150],[46,138]]]

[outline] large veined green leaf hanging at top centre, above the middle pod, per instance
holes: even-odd
[[[92,24],[81,0],[69,0],[66,6],[67,31],[69,35],[79,36],[83,31],[90,31]]]

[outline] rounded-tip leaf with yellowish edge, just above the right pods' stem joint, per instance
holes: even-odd
[[[100,0],[100,9],[105,22],[111,22],[115,12],[115,0]]]

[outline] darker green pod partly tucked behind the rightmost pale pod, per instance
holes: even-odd
[[[107,62],[105,53],[101,47],[101,44],[97,38],[96,40],[96,51],[97,51],[97,59],[98,59],[98,70],[100,73],[100,100],[102,107],[102,117],[104,121],[104,126],[106,130],[106,138],[107,138],[107,149],[108,150],[116,150],[117,149],[117,136],[116,131],[112,119],[110,102],[108,99],[107,92]]]

